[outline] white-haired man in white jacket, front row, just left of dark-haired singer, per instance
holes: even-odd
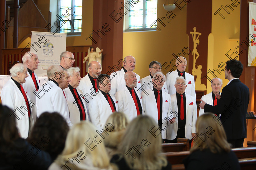
[[[80,69],[79,67],[71,67],[68,70],[70,75],[70,83],[68,88],[64,89],[67,99],[67,104],[70,111],[70,121],[72,124],[80,123],[80,121],[88,121],[87,109],[85,100],[80,96],[81,90],[76,87],[80,84]]]

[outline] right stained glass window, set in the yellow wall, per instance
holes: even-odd
[[[129,0],[130,4],[126,3],[130,11],[126,10],[125,30],[126,31],[144,31],[155,30],[155,27],[150,28],[150,25],[157,18],[157,0]]]

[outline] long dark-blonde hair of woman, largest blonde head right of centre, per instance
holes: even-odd
[[[156,170],[162,169],[162,167],[167,165],[165,156],[161,155],[162,138],[161,135],[155,138],[153,135],[155,129],[157,129],[157,124],[149,116],[138,116],[128,125],[126,133],[123,135],[122,141],[118,146],[118,152],[131,169]],[[155,134],[158,132],[160,131],[158,130]],[[148,141],[145,142],[145,139]],[[137,147],[138,145],[140,146]],[[137,148],[140,154],[131,149],[132,146]]]

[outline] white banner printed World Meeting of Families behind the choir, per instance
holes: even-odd
[[[60,64],[60,54],[66,51],[66,37],[66,33],[32,31],[30,51],[37,53],[40,62],[35,70],[37,76],[47,75],[49,66]]]

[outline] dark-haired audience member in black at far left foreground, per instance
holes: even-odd
[[[52,163],[50,155],[44,151],[37,151],[34,146],[19,137],[16,117],[9,116],[11,113],[12,110],[9,107],[0,104],[1,169],[47,169]],[[34,156],[25,161],[22,155],[29,153],[33,153]]]

